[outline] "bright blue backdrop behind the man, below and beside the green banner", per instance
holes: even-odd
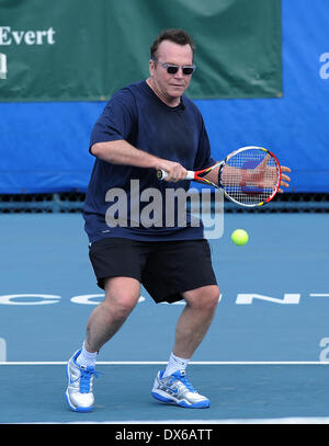
[[[328,16],[327,0],[282,1],[282,98],[195,100],[214,158],[261,145],[292,168],[291,192],[329,192]],[[86,191],[89,137],[104,105],[0,104],[0,193]]]

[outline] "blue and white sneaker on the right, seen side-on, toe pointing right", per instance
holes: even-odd
[[[211,405],[211,401],[197,393],[193,388],[184,370],[175,371],[166,378],[163,378],[163,371],[158,373],[151,390],[157,400],[192,409],[208,408]]]

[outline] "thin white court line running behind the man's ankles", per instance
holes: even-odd
[[[67,361],[8,361],[1,365],[66,365]],[[161,365],[168,361],[98,361],[98,365]],[[329,361],[191,361],[190,365],[329,365]]]

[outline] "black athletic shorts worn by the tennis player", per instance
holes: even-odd
[[[104,238],[90,245],[89,256],[99,287],[104,289],[110,277],[133,277],[156,302],[174,302],[184,291],[217,285],[206,240]]]

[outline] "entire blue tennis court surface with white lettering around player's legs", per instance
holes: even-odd
[[[65,362],[80,347],[102,298],[76,214],[2,215],[0,422],[328,422],[328,215],[228,214],[209,240],[222,300],[189,366],[206,410],[150,396],[182,305],[143,289],[129,320],[99,355],[95,410],[65,403]],[[249,232],[236,247],[230,233]],[[20,404],[18,404],[18,399]]]

